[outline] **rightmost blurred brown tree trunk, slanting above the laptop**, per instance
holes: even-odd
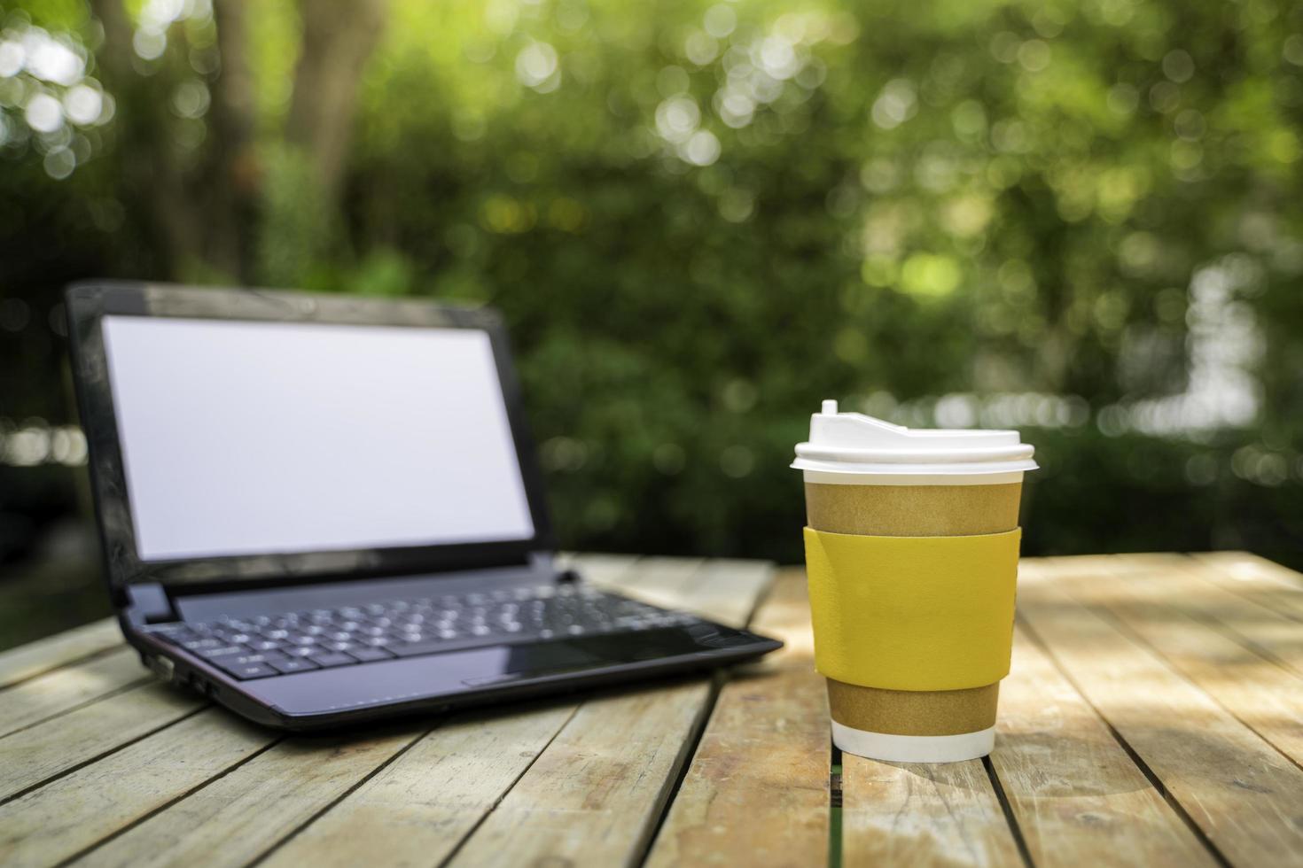
[[[323,200],[334,203],[358,82],[384,29],[388,0],[301,0],[300,9],[304,43],[285,137],[304,150]]]

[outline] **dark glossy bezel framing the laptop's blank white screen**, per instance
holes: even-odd
[[[551,523],[542,475],[524,419],[520,384],[511,364],[507,336],[489,308],[447,307],[420,299],[370,299],[351,295],[262,289],[208,289],[168,284],[96,281],[66,293],[73,383],[89,449],[91,493],[103,543],[104,570],[115,590],[128,584],[165,587],[244,587],[357,579],[365,575],[439,573],[528,563],[532,553],[551,552]],[[137,553],[104,351],[104,316],[163,316],[404,328],[469,328],[489,336],[511,436],[520,462],[534,536],[525,540],[457,543],[278,554],[235,554],[142,561]]]

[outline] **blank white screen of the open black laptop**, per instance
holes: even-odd
[[[477,329],[107,316],[141,560],[534,535]]]

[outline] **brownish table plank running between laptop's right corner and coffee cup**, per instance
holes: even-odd
[[[653,868],[812,865],[829,835],[827,691],[814,671],[801,570],[784,570],[752,629],[787,643],[719,692],[652,847]]]

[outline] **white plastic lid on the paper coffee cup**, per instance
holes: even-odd
[[[807,474],[985,476],[1036,470],[1016,431],[911,429],[825,401],[792,467]]]

